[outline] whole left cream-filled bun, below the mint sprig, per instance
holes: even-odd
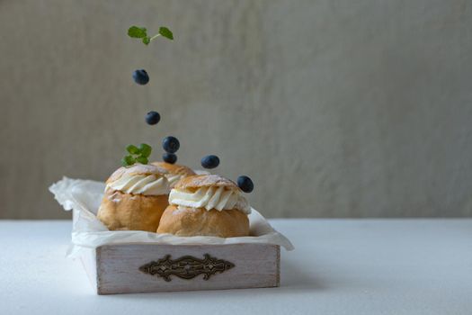
[[[168,205],[165,168],[135,164],[120,167],[106,181],[97,217],[108,229],[155,232]]]

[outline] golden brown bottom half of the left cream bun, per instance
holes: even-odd
[[[108,229],[147,230],[156,232],[168,205],[168,194],[129,194],[108,189],[102,199],[97,218]]]

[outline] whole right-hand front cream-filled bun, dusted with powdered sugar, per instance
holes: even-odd
[[[169,206],[157,233],[233,238],[249,235],[251,207],[241,189],[219,175],[181,179],[169,194]]]

